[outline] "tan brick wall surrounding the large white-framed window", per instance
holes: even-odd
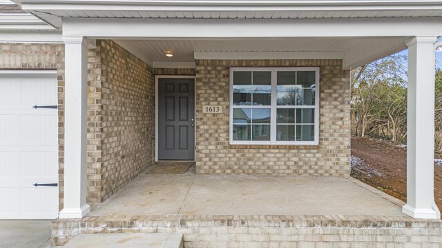
[[[229,145],[230,67],[320,68],[319,145]],[[196,169],[198,174],[348,175],[349,72],[340,60],[196,61]],[[223,114],[202,114],[203,105]]]

